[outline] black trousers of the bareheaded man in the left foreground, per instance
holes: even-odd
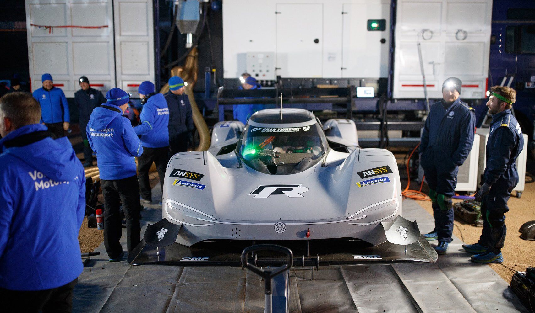
[[[78,282],[74,279],[63,286],[37,290],[15,291],[0,288],[0,303],[4,312],[71,312],[72,290]]]

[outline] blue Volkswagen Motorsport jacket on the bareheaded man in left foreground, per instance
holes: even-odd
[[[86,178],[66,137],[26,144],[45,130],[32,124],[0,140],[0,287],[10,290],[56,288],[82,272]]]

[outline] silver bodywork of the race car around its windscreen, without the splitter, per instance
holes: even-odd
[[[380,222],[402,213],[398,166],[391,152],[329,149],[321,161],[300,173],[264,174],[247,166],[235,151],[216,155],[222,146],[238,142],[228,136],[230,132],[243,131],[240,122],[227,123],[228,127],[216,124],[212,137],[217,134],[224,140],[212,141],[208,151],[178,153],[169,162],[163,217],[182,224],[176,242],[191,246],[209,239],[358,238],[373,245],[386,241]],[[350,131],[356,135],[356,129]],[[351,136],[340,139],[348,145]]]

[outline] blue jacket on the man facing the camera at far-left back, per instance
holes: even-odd
[[[41,122],[52,124],[71,121],[63,90],[52,87],[46,91],[41,87],[33,92],[33,96],[41,105]]]

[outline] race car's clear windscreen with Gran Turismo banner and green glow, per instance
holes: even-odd
[[[318,123],[304,127],[247,125],[238,143],[241,158],[265,165],[295,165],[304,158],[317,160],[327,151],[327,139]]]

